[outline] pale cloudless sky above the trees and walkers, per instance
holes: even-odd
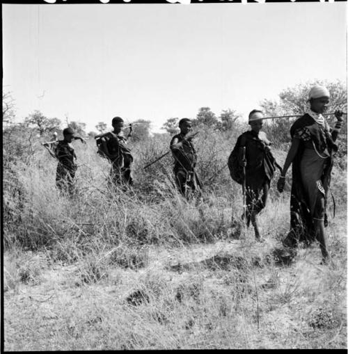
[[[347,78],[347,3],[3,4],[3,86],[17,118],[244,117],[313,79]],[[40,98],[40,96],[43,97]]]

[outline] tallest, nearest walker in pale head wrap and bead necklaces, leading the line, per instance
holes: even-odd
[[[333,153],[338,147],[335,140],[342,127],[342,112],[335,111],[337,122],[331,129],[322,113],[330,101],[330,92],[324,86],[314,86],[308,95],[310,109],[290,128],[292,145],[287,153],[277,188],[281,193],[285,175],[292,163],[290,198],[290,232],[283,241],[285,246],[319,241],[322,264],[329,261],[324,227],[327,226],[326,193],[330,184]]]

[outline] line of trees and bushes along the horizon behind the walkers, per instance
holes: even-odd
[[[316,82],[326,86],[331,92],[330,111],[340,108],[347,112],[347,88],[342,81],[320,81]],[[313,82],[300,83],[294,87],[282,90],[277,99],[263,99],[259,104],[267,116],[278,115],[301,115],[308,108],[307,95]],[[250,107],[252,110],[256,107]],[[184,118],[184,117],[182,117]],[[242,120],[242,115],[235,110],[228,108],[216,115],[209,107],[201,107],[198,109],[196,117],[187,117],[192,121],[193,129],[209,127],[217,132],[241,131],[247,129],[246,121]],[[181,118],[171,117],[164,122],[161,129],[166,134],[177,134],[178,122]],[[270,140],[275,147],[284,148],[290,143],[290,126],[296,118],[279,118],[274,120],[264,120],[264,130],[269,135]],[[331,126],[333,125],[333,116],[327,118]],[[134,129],[132,140],[134,142],[150,138],[150,120],[138,119],[134,120]],[[86,124],[83,122],[71,121],[69,126],[74,129],[79,136],[94,137],[97,133],[90,131],[86,134]],[[15,101],[10,92],[3,93],[3,146],[6,149],[17,151],[17,154],[26,154],[33,137],[49,138],[54,131],[61,134],[63,122],[59,118],[47,118],[40,111],[34,111],[29,114],[24,122],[15,123]],[[127,125],[127,124],[126,124]],[[95,126],[99,133],[104,133],[108,124],[98,122]],[[129,128],[125,129],[128,134]],[[157,136],[155,134],[154,136]],[[340,132],[340,152],[339,156],[347,155],[347,124],[343,124]],[[30,149],[29,149],[30,151]]]

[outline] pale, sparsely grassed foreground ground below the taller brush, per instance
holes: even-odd
[[[45,252],[6,252],[5,349],[347,348],[345,225],[336,217],[330,230],[329,266],[317,244],[276,264],[275,241],[249,231],[149,246],[144,267],[109,266],[94,282]],[[202,262],[214,255],[227,261]]]

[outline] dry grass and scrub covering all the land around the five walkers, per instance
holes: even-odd
[[[309,86],[281,92],[279,102],[265,100],[264,112],[302,113],[290,104],[301,106]],[[326,86],[347,112],[342,83]],[[256,242],[253,227],[242,222],[242,188],[227,168],[247,129],[235,111],[198,112],[202,199],[177,193],[170,154],[143,169],[168,151],[173,134],[146,130],[129,143],[134,186],[127,191],[108,184],[110,166],[96,154],[93,134],[87,145],[74,143],[79,167],[70,198],[58,193],[56,161],[40,145],[51,128],[37,136],[32,122],[14,124],[15,106],[6,102],[6,351],[347,348],[347,122],[331,180],[335,208],[331,194],[327,205],[332,262],[322,266],[318,243],[297,252],[281,244],[290,225],[290,173],[281,195],[278,171],[271,182],[259,217],[266,241]],[[167,131],[171,122],[177,120],[167,120]],[[289,127],[264,122],[280,165]]]

